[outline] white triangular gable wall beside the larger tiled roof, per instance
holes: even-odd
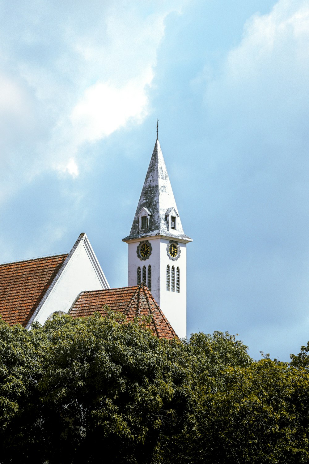
[[[89,257],[89,245],[87,245],[82,240],[77,246],[34,321],[44,324],[53,312],[68,312],[76,297],[83,290],[109,288],[108,284],[102,285],[95,269],[98,263]],[[92,249],[91,251],[93,253]]]

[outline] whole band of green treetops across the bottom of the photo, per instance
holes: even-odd
[[[254,361],[227,332],[120,319],[0,320],[1,463],[309,462],[309,345]]]

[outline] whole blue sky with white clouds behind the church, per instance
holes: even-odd
[[[156,141],[187,327],[309,340],[308,0],[0,0],[0,262],[86,232],[111,287]]]

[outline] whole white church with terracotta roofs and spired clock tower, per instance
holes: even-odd
[[[85,233],[69,254],[0,264],[0,316],[10,325],[44,324],[54,312],[73,317],[106,307],[151,316],[164,338],[186,336],[186,245],[158,141],[151,156],[128,244],[128,287],[111,289]]]

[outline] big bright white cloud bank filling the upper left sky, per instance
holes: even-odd
[[[84,144],[143,121],[164,21],[179,11],[178,3],[150,8],[94,1],[72,9],[30,1],[6,8],[0,24],[1,174],[10,187],[3,184],[2,199],[44,170],[78,176]]]

